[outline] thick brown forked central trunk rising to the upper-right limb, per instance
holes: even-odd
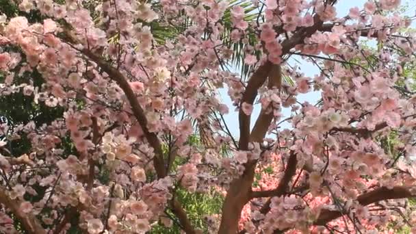
[[[330,1],[330,3],[334,2],[335,1]],[[291,38],[287,38],[282,42],[281,55],[287,54],[305,38],[314,34],[315,31],[317,31],[317,29],[319,29],[323,24],[318,14],[314,16],[313,22],[314,23],[311,27],[303,27],[302,29],[299,29]],[[281,87],[281,84],[274,83],[275,81],[273,81],[276,76],[277,69],[274,68],[276,66],[278,65],[272,64],[270,61],[259,66],[255,73],[253,73],[252,77],[250,77],[246,90],[244,90],[244,94],[242,95],[242,100],[240,102],[242,108],[239,109],[240,151],[246,151],[248,149],[248,142],[260,142],[263,140],[268,131],[268,126],[272,121],[272,114],[266,115],[265,113],[261,113],[258,118],[259,122],[256,122],[255,129],[250,133],[250,112],[245,112],[243,105],[252,105],[254,103],[259,88],[263,86],[268,77],[271,79],[270,83],[272,86]],[[280,66],[278,68],[278,72],[281,73]],[[278,82],[281,82],[281,74],[277,76],[279,77]],[[253,136],[255,136],[255,139],[252,138]],[[231,183],[231,188],[227,192],[227,196],[224,201],[224,213],[220,225],[220,233],[225,233],[226,230],[231,233],[237,232],[237,230],[230,229],[230,226],[236,226],[235,223],[239,220],[241,209],[248,202],[248,200],[250,200],[251,184],[254,178],[255,168],[256,161],[248,161],[245,166],[243,176],[235,179],[235,181]]]

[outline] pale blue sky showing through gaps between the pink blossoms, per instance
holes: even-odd
[[[367,0],[341,0],[337,3],[337,16],[343,17],[348,14],[350,11],[350,8],[359,7],[360,9],[363,8],[364,3]],[[406,15],[414,15],[416,10],[416,2],[415,0],[408,0],[408,1],[402,1],[402,3],[408,3],[409,8]],[[415,22],[413,22],[413,26],[415,26]],[[299,57],[297,57],[299,60]],[[298,64],[298,66],[301,68],[300,70],[302,73],[304,73],[307,77],[313,77],[314,75],[319,74],[319,69],[314,66],[313,64],[309,62],[300,61],[299,63],[294,62],[293,59],[289,60],[289,64],[292,66],[295,64]],[[226,121],[226,125],[229,127],[231,134],[238,138],[239,135],[239,129],[238,129],[238,113],[234,111],[235,107],[233,107],[233,103],[231,102],[231,99],[229,99],[229,96],[227,94],[226,88],[220,90],[220,96],[224,104],[230,107],[229,114],[224,116],[224,119]],[[309,103],[316,103],[320,99],[320,92],[309,92],[307,94],[300,94],[298,96],[298,101],[300,103],[304,103],[305,101],[308,101]],[[252,120],[251,120],[251,127],[254,125],[255,120],[257,116],[259,116],[261,107],[259,105],[255,105],[253,112],[252,112]],[[289,109],[283,109],[283,116],[290,116]],[[285,117],[283,117],[285,118]],[[283,128],[288,128],[289,125],[281,125]]]

